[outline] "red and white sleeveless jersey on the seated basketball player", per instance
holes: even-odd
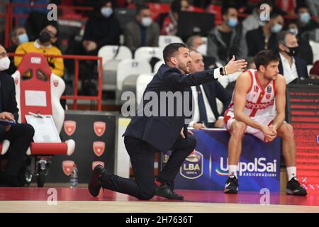
[[[272,80],[267,84],[265,89],[262,89],[257,77],[257,70],[247,70],[250,73],[252,85],[246,95],[246,103],[244,113],[251,118],[257,116],[272,115],[274,114],[274,97],[276,95],[275,81]],[[230,102],[230,106],[225,111],[225,122],[229,118],[234,118],[234,95]]]

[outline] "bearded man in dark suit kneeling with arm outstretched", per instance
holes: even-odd
[[[172,96],[184,94],[191,86],[211,82],[223,74],[242,71],[247,65],[245,60],[235,61],[233,57],[225,67],[189,74],[191,64],[189,49],[181,43],[167,45],[163,50],[163,58],[165,64],[159,67],[157,74],[147,85],[141,108],[138,109],[137,116],[132,118],[124,133],[125,148],[130,155],[135,180],[111,175],[101,165],[97,165],[89,184],[89,192],[92,196],[98,196],[103,187],[138,199],[152,199],[154,195],[168,199],[184,199],[183,196],[174,193],[174,179],[185,158],[196,146],[196,139],[190,131],[187,132],[185,114],[179,116],[175,113],[181,109],[179,104],[184,103],[184,100],[175,100],[173,105],[167,105],[166,101],[160,100],[160,106],[158,104],[153,106],[153,110],[157,109],[161,112],[160,116],[158,113],[146,116],[141,113],[150,104],[150,101],[147,102],[150,99],[146,96],[157,94],[159,97],[163,93],[172,94]],[[174,112],[173,115],[167,114],[171,111]],[[167,150],[172,150],[172,155],[159,172],[158,184],[155,184],[155,152]]]

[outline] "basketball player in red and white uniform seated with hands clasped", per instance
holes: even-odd
[[[245,133],[250,133],[265,143],[272,142],[276,136],[281,137],[289,179],[286,194],[306,196],[306,189],[301,187],[296,177],[293,127],[284,122],[286,81],[279,74],[279,59],[271,50],[262,50],[254,62],[257,70],[247,70],[238,77],[233,99],[224,115],[226,128],[230,131],[229,173],[224,192],[238,192],[237,165],[242,152],[242,138]]]

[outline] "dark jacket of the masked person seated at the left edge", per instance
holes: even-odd
[[[10,112],[18,121],[18,107],[16,104],[16,87],[14,80],[6,72],[0,72],[0,112]]]

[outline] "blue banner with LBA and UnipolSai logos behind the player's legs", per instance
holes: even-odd
[[[228,179],[228,131],[194,130],[197,145],[186,158],[175,180],[175,189],[223,190]],[[169,158],[163,155],[163,163]],[[240,191],[280,191],[281,139],[264,143],[246,134],[238,164]]]

